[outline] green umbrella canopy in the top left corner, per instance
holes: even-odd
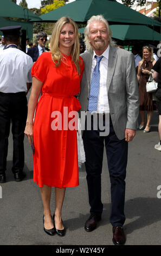
[[[40,17],[31,13],[31,11],[22,8],[20,5],[17,5],[10,0],[1,1],[1,8],[0,8],[0,17],[16,17],[25,20],[41,20]],[[2,26],[1,26],[2,27]]]

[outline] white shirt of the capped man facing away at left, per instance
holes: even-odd
[[[32,82],[33,59],[17,48],[7,48],[0,52],[0,92],[18,93],[27,91],[27,83]]]

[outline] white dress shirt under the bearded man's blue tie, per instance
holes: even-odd
[[[108,68],[108,55],[109,55],[110,45],[108,45],[107,49],[101,56],[104,56],[100,61],[100,88],[99,88],[99,96],[98,96],[98,105],[97,112],[98,113],[110,113],[110,108],[108,104],[108,96],[107,96],[107,68]],[[94,57],[96,53],[93,51],[93,60],[92,60],[92,68],[91,68],[91,79],[92,73],[96,65],[96,58]]]

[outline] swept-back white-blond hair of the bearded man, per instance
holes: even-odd
[[[85,42],[85,45],[87,46],[87,50],[92,50],[92,46],[89,42],[89,26],[91,25],[92,22],[94,21],[101,21],[101,22],[104,22],[106,27],[107,27],[107,33],[108,33],[108,37],[110,39],[109,41],[109,44],[110,46],[115,46],[115,42],[112,40],[111,36],[112,36],[112,31],[111,31],[111,28],[108,24],[108,21],[105,20],[104,16],[103,15],[96,15],[96,16],[92,16],[88,21],[87,21],[87,26],[85,28],[85,32],[84,32],[84,35],[85,35],[85,39],[84,39],[84,42]]]

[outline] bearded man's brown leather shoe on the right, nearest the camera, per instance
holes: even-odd
[[[113,239],[114,245],[124,245],[126,242],[123,226],[113,227]]]

